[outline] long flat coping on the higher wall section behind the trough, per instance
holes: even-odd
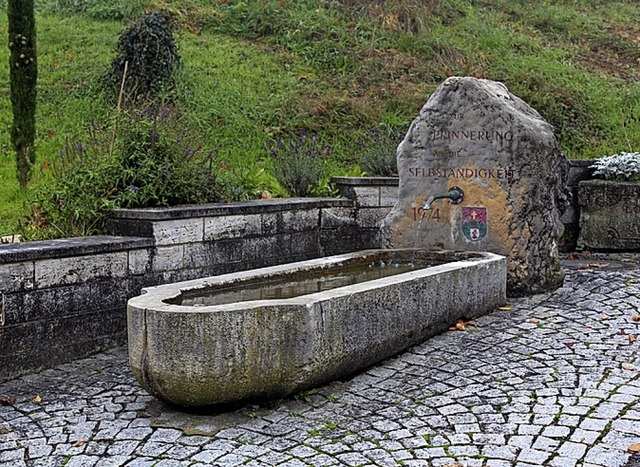
[[[353,201],[339,198],[278,198],[233,203],[194,204],[172,208],[115,209],[110,217],[112,219],[164,221],[328,207],[353,207]]]

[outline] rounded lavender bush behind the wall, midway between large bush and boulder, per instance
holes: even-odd
[[[325,174],[331,146],[305,130],[287,133],[269,145],[276,179],[291,196],[314,194]]]

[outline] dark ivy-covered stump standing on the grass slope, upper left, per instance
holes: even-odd
[[[163,86],[171,84],[171,75],[180,65],[169,20],[157,11],[142,16],[122,32],[117,52],[109,80],[120,89],[127,64],[124,95],[129,101],[156,96]]]

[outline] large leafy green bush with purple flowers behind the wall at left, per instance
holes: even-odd
[[[193,137],[175,112],[150,108],[119,121],[111,131],[95,128],[89,142],[69,141],[45,166],[47,183],[31,201],[26,238],[104,233],[117,207],[157,207],[219,201],[224,197],[216,157]]]

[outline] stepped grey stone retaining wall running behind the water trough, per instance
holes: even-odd
[[[2,245],[0,381],[124,343],[142,287],[376,248],[375,218],[330,198],[131,209],[116,236]]]

